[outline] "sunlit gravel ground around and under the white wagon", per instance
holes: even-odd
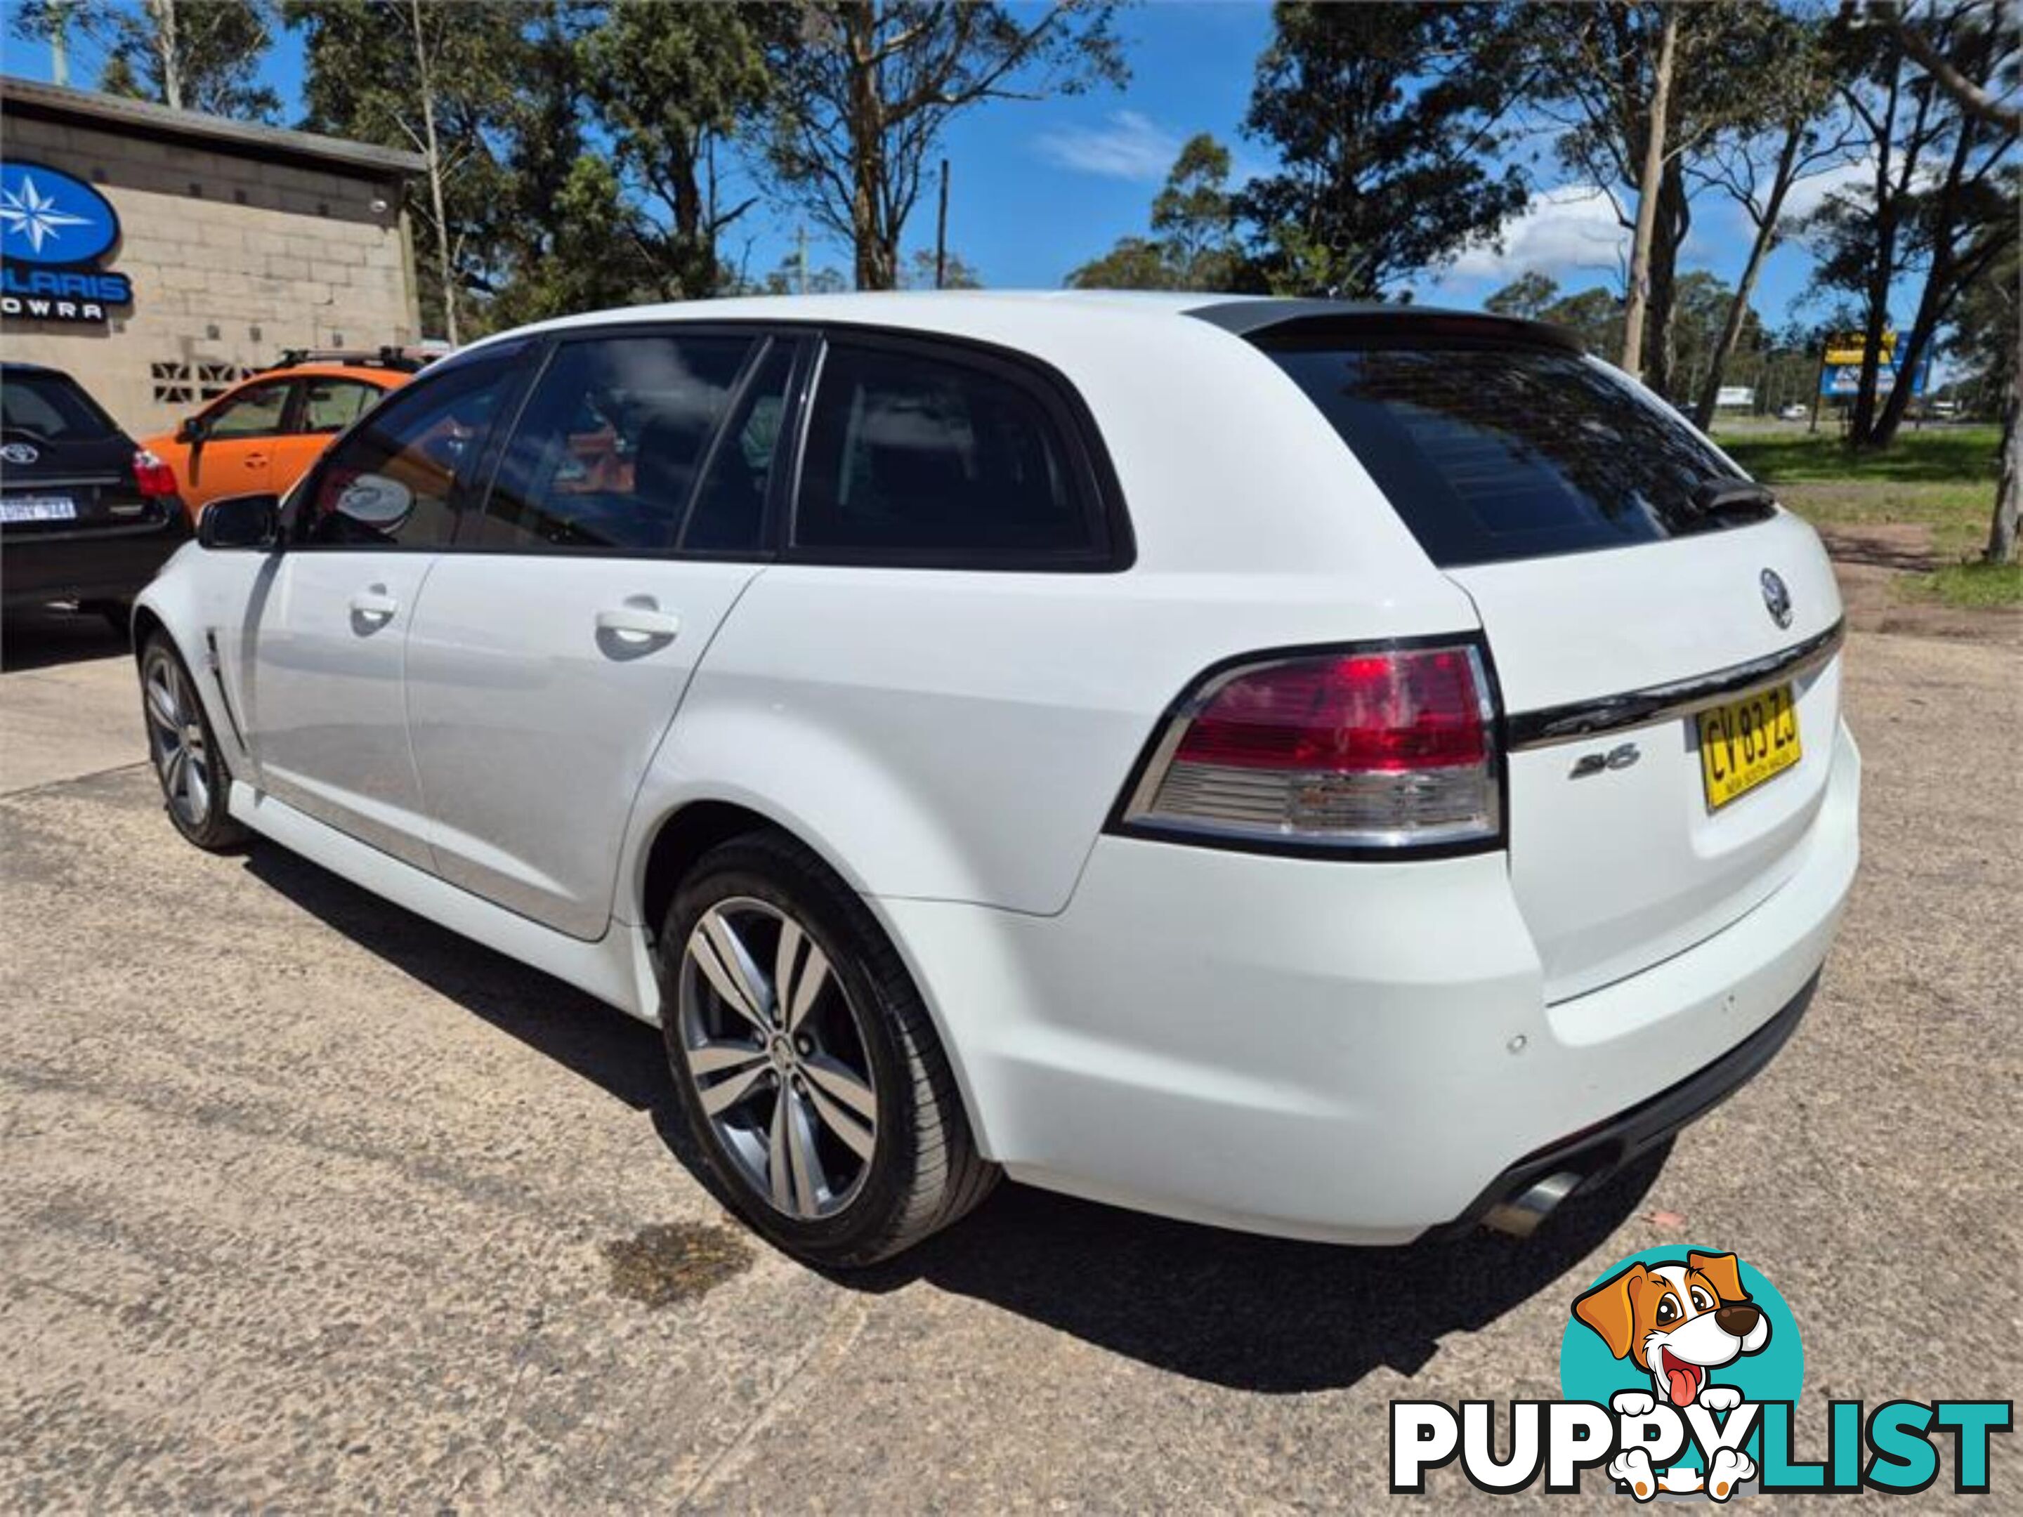
[[[1380,1507],[1392,1398],[1556,1396],[1568,1301],[1651,1244],[1782,1288],[1800,1450],[1827,1396],[2015,1392],[2011,649],[1855,635],[1865,864],[1813,1011],[1529,1244],[1003,1187],[842,1280],[684,1167],[653,1032],[269,845],[180,845],[127,763],[129,665],[53,633],[8,659],[6,1511]],[[1993,1458],[2017,1509],[2013,1436]]]

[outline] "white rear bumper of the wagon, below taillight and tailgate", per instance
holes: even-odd
[[[1540,1161],[1600,1177],[1762,1068],[1831,945],[1857,813],[1841,728],[1768,900],[1558,1003],[1501,856],[1341,864],[1105,837],[1060,916],[874,906],[1014,1177],[1408,1242],[1471,1224]]]

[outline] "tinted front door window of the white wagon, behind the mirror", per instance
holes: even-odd
[[[386,405],[324,461],[297,542],[431,548],[455,530],[455,489],[483,449],[500,394],[524,348],[431,372]]]

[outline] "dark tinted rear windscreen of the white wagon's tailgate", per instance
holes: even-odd
[[[1554,348],[1266,344],[1442,568],[1738,526],[1736,471],[1602,364]],[[1697,500],[1695,500],[1697,498]]]

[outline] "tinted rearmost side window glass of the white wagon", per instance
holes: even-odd
[[[809,421],[793,542],[894,560],[1101,548],[1056,417],[997,366],[835,342]]]

